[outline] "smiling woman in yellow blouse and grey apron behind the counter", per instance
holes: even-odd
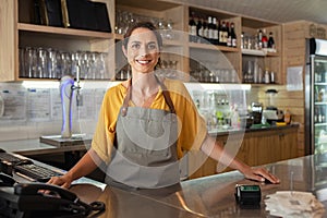
[[[207,134],[187,89],[180,81],[157,76],[162,39],[152,23],[136,23],[122,46],[132,78],[108,89],[92,148],[66,174],[49,183],[70,186],[102,167],[106,183],[124,189],[158,189],[178,184],[180,162],[190,150],[202,150],[240,170],[246,178],[278,183],[264,168],[252,169]]]

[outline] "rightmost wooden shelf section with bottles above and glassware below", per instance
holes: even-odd
[[[271,33],[275,41],[274,49],[255,49],[255,36],[262,32],[267,39]],[[282,80],[282,28],[280,24],[242,17],[242,69],[243,83],[259,84],[283,84]],[[256,70],[255,65],[257,66]],[[269,74],[269,81],[265,81],[265,72]],[[250,74],[250,75],[249,75]],[[272,74],[272,76],[271,76]],[[250,76],[250,77],[246,77]]]

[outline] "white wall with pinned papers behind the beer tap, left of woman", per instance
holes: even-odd
[[[83,106],[73,97],[73,133],[93,134],[108,83],[83,84]],[[0,142],[60,135],[62,108],[59,82],[0,83],[4,113],[0,117]]]

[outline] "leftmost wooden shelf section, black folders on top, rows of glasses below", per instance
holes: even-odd
[[[106,69],[106,74],[101,75],[102,78],[109,78],[114,73],[112,69],[108,68],[110,63],[114,63],[112,57],[112,49],[110,45],[114,41],[114,35],[105,32],[95,31],[84,31],[74,29],[65,27],[55,27],[46,25],[34,24],[33,12],[34,12],[34,1],[33,0],[1,0],[1,33],[7,33],[1,37],[1,50],[0,50],[0,81],[22,81],[29,78],[59,78],[60,75],[50,75],[49,73],[35,73],[28,75],[26,70],[27,61],[23,59],[27,58],[27,51],[33,50],[33,56],[41,56],[39,50],[52,49],[58,51],[57,60],[59,61],[59,56],[64,53],[69,55],[66,57],[68,65],[73,61],[73,53],[102,53],[106,57],[104,65]],[[110,0],[102,0],[107,3],[108,14],[111,25],[114,21],[114,2]],[[4,45],[4,46],[3,46]],[[26,51],[26,52],[25,52]],[[36,52],[36,53],[35,53]],[[86,56],[86,55],[85,55]],[[35,58],[37,59],[37,58]],[[34,68],[37,69],[37,63],[35,61]],[[50,64],[50,63],[48,63]],[[63,63],[61,64],[63,65]],[[50,66],[47,66],[50,68]],[[62,70],[62,66],[58,66],[58,71]],[[71,66],[72,68],[72,66]],[[34,69],[34,71],[37,71]],[[71,72],[74,74],[74,72]]]

